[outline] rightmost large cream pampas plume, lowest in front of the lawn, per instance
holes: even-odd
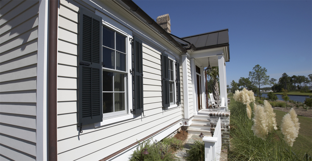
[[[289,146],[293,146],[295,142],[295,138],[298,137],[297,130],[295,128],[295,123],[291,119],[291,115],[287,113],[283,119],[281,124],[281,132],[284,135],[284,140]]]

